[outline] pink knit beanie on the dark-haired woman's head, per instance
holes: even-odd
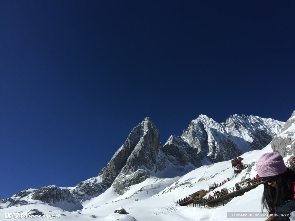
[[[286,172],[283,157],[277,152],[263,154],[256,165],[259,177],[272,177]]]

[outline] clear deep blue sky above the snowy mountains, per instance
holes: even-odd
[[[95,177],[150,117],[293,110],[294,1],[0,1],[0,199]]]

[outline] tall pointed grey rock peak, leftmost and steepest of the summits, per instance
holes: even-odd
[[[126,187],[147,179],[149,171],[165,169],[165,160],[159,154],[160,146],[158,129],[150,118],[145,118],[131,131],[123,146],[99,174],[110,177],[115,191],[123,194],[127,191]]]

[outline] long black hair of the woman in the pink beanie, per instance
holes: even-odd
[[[271,177],[276,180],[276,188],[271,187],[268,183],[264,183],[264,190],[261,199],[262,210],[264,207],[269,214],[275,212],[275,206],[289,199],[293,199],[293,185],[295,182],[295,172],[287,168],[286,172]]]

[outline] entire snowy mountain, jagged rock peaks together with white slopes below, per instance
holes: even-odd
[[[279,136],[294,136],[293,117],[294,113],[286,123],[288,128],[285,126]],[[263,144],[269,143],[269,137],[281,131],[283,124],[272,119],[238,115],[218,124],[201,115],[190,123],[181,137],[171,136],[162,147],[158,129],[150,118],[145,118],[131,131],[98,177],[69,188],[27,188],[0,200],[0,217],[7,212],[28,212],[33,209],[42,214],[63,214],[61,220],[86,220],[89,217],[98,217],[99,220],[171,220],[169,216],[173,217],[172,220],[195,220],[196,216],[200,220],[202,217],[203,220],[222,220],[214,219],[214,214],[240,212],[242,208],[253,208],[254,212],[259,212],[257,208],[260,203],[251,197],[254,192],[255,197],[262,194],[260,187],[245,194],[245,197],[249,196],[245,200],[250,203],[249,207],[238,207],[239,203],[233,199],[224,209],[219,207],[210,213],[200,208],[192,210],[179,207],[173,203],[173,199],[176,201],[199,189],[208,189],[208,184],[231,177],[234,171],[230,161],[214,164],[212,161],[236,157],[238,155],[235,154],[251,149],[261,149]],[[261,151],[252,150],[243,154],[243,162],[250,166],[236,180],[228,182],[228,187],[256,175],[255,163],[263,153],[271,152],[272,146],[273,143]],[[289,157],[289,152],[284,154],[285,158]],[[201,161],[204,160],[211,161],[211,165],[202,166]],[[118,207],[123,207],[130,215],[114,214]]]

